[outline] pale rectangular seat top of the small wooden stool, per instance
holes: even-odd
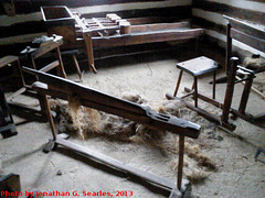
[[[200,56],[187,62],[177,64],[177,68],[189,73],[192,76],[201,76],[216,70],[219,64],[211,58]]]

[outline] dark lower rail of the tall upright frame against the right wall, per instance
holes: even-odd
[[[265,40],[256,38],[235,29],[231,29],[231,37],[252,46],[261,52],[265,52]]]

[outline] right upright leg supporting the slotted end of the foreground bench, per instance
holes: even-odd
[[[181,191],[182,176],[183,176],[183,163],[184,163],[184,135],[179,136],[179,165],[178,165],[178,180],[177,187]]]

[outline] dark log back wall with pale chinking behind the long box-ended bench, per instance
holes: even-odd
[[[10,1],[10,0],[3,0]],[[123,18],[161,15],[191,18],[192,0],[13,0],[15,15],[9,16],[0,4],[0,48],[19,51],[26,42],[45,34],[40,7],[67,6],[86,16],[116,12]],[[1,52],[3,52],[1,50]]]

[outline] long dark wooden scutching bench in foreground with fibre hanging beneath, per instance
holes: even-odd
[[[61,77],[25,67],[23,70],[32,75],[36,75],[40,80],[34,82],[32,87],[40,96],[44,98],[45,110],[52,129],[53,140],[51,140],[45,147],[46,152],[60,145],[80,153],[91,160],[100,162],[108,167],[115,167],[116,169],[137,176],[150,184],[153,184],[155,186],[169,190],[171,193],[171,197],[182,197],[182,193],[186,191],[187,185],[189,184],[188,180],[182,179],[184,138],[188,136],[198,139],[201,130],[200,125],[176,117],[157,113],[140,105],[115,98]],[[70,140],[65,140],[62,134],[57,134],[56,132],[57,130],[55,129],[53,122],[47,96],[64,100],[67,100],[67,98],[71,96],[75,96],[82,106],[119,116],[145,124],[151,129],[169,131],[179,134],[179,166],[177,184],[163,177],[135,168],[87,147],[83,147],[71,142]]]

